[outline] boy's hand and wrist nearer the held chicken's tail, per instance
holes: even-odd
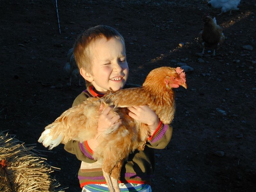
[[[113,108],[114,106],[109,106],[106,109],[103,109],[103,106],[100,105],[99,111],[101,112],[101,114],[98,120],[97,134],[95,138],[87,140],[87,143],[92,151],[94,151],[98,147],[99,143],[97,141],[97,138],[100,134],[102,134],[102,132],[104,132],[106,129],[110,128],[113,125],[119,126],[122,124],[121,121],[118,121],[120,119],[119,115],[114,116],[112,113],[109,113]]]

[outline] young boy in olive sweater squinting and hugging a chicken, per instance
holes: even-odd
[[[126,61],[124,38],[108,26],[96,26],[81,34],[74,45],[74,55],[80,74],[86,80],[87,89],[74,100],[73,106],[88,97],[102,97],[108,91],[128,88],[126,85],[129,68]],[[108,191],[103,177],[101,164],[93,160],[92,154],[100,140],[97,137],[108,127],[118,124],[120,116],[113,116],[109,111],[100,109],[97,136],[79,143],[69,141],[65,150],[75,154],[82,161],[78,179],[82,192]],[[155,169],[154,149],[165,148],[172,136],[172,127],[159,121],[158,116],[147,105],[129,107],[128,115],[142,123],[148,124],[151,137],[148,138],[143,151],[136,150],[130,154],[121,170],[119,187],[121,191],[151,191],[151,179]]]

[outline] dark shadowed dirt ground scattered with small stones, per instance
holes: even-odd
[[[89,27],[109,25],[126,41],[129,83],[143,83],[160,66],[186,63],[194,69],[186,73],[188,89],[176,90],[173,136],[168,147],[156,150],[153,191],[256,191],[255,6],[243,0],[232,15],[218,16],[219,9],[200,0],[59,0],[60,34],[51,0],[5,1],[0,130],[36,144],[47,162],[61,169],[53,173],[61,186],[80,191],[76,157],[63,145],[48,152],[37,140],[85,89],[77,80],[68,86],[63,75],[76,37]],[[197,36],[205,13],[216,17],[226,36],[215,57],[196,55],[202,51]]]

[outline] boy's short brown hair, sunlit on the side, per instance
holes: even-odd
[[[114,37],[124,43],[123,36],[112,27],[98,25],[87,29],[84,33],[78,36],[74,44],[74,56],[79,69],[84,68],[86,72],[92,73],[92,50],[90,44],[102,37],[105,37],[107,40]],[[86,82],[87,86],[88,83],[89,82]]]

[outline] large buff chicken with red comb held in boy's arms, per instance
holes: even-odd
[[[110,127],[98,137],[99,146],[93,151],[93,158],[102,162],[102,172],[109,191],[120,191],[118,180],[124,161],[134,150],[143,150],[150,137],[147,124],[128,116],[126,107],[148,105],[164,124],[170,124],[175,112],[172,89],[180,85],[187,89],[183,69],[156,68],[148,74],[141,87],[110,92],[100,99],[91,97],[66,110],[52,124],[45,127],[38,142],[52,149],[69,140],[84,142],[94,138],[100,106],[107,108],[115,105],[111,112],[120,116],[122,124]]]

